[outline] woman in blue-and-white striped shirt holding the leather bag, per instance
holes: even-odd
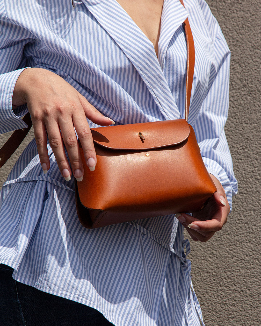
[[[1,1],[1,132],[26,127],[27,111],[35,132],[1,191],[0,262],[14,269],[4,284],[13,286],[6,291],[21,324],[203,323],[183,228],[207,241],[237,193],[223,129],[230,52],[204,0],[185,8],[178,0]],[[83,165],[73,127],[94,170],[89,127],[184,117],[188,16],[195,43],[188,122],[218,191],[193,216],[87,230],[75,209],[72,175],[81,180]],[[47,309],[48,295],[55,304]]]

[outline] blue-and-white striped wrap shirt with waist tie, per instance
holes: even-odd
[[[76,1],[75,8],[70,0],[0,0],[0,132],[26,127],[26,105],[11,107],[25,67],[62,76],[116,124],[184,118],[182,22],[189,16],[195,72],[188,122],[232,209],[237,180],[224,133],[230,51],[206,2],[184,2],[186,9],[164,0],[158,60],[116,0]],[[47,175],[32,140],[1,190],[0,262],[14,268],[13,278],[93,307],[117,326],[200,325],[189,241],[174,215],[85,229],[73,180],[61,176],[49,143],[48,150]]]

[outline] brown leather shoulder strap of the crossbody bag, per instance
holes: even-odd
[[[184,6],[183,0],[180,0],[181,4]],[[185,6],[184,6],[185,8]],[[186,77],[186,112],[185,119],[188,121],[189,108],[190,108],[190,97],[192,90],[192,82],[194,75],[194,62],[195,62],[195,50],[194,41],[192,36],[192,31],[190,28],[188,18],[184,21],[184,28],[187,40],[187,77]],[[23,121],[27,124],[27,128],[18,129],[13,132],[8,141],[0,149],[0,168],[6,163],[6,161],[13,155],[18,146],[24,140],[28,131],[32,126],[32,121],[30,113],[25,114]]]

